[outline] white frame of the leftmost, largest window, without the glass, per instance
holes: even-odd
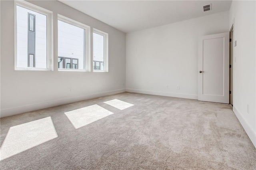
[[[46,68],[34,68],[34,67],[17,67],[17,8],[16,6],[27,8],[34,12],[46,15],[47,28],[46,28]],[[53,71],[53,12],[46,10],[40,6],[36,6],[24,0],[16,0],[14,3],[14,70],[27,70],[27,71]]]

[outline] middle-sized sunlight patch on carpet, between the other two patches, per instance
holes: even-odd
[[[76,129],[112,114],[112,112],[100,107],[99,105],[91,105],[81,109],[65,112],[65,115]]]

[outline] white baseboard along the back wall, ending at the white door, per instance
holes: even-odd
[[[142,93],[147,95],[159,95],[159,96],[168,96],[168,97],[179,97],[185,99],[198,99],[198,95],[190,95],[190,94],[183,94],[183,93],[168,93],[162,91],[149,91],[149,90],[138,90],[138,89],[126,89],[127,92],[132,93]]]

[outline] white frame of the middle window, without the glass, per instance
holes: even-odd
[[[90,54],[91,54],[91,40],[90,40],[90,32],[91,32],[91,27],[87,26],[85,24],[82,24],[78,21],[72,20],[68,17],[62,16],[60,14],[58,14],[58,20],[66,22],[68,24],[71,24],[73,26],[82,28],[85,30],[85,69],[59,69],[58,67],[58,71],[91,71],[91,58],[90,58]]]

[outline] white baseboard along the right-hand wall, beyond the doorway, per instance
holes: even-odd
[[[250,127],[250,125],[248,124],[246,119],[244,119],[243,115],[234,106],[233,106],[233,111],[234,111],[237,119],[240,121],[242,127],[244,128],[245,132],[249,136],[250,140],[254,144],[254,147],[256,148],[256,132],[253,130],[252,127]]]

